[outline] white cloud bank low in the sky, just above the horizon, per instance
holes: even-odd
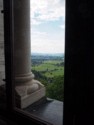
[[[40,53],[63,53],[64,37],[50,37],[46,32],[32,30],[31,35],[31,52]]]

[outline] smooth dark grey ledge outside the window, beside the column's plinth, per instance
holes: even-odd
[[[63,102],[61,101],[47,98],[44,103],[31,105],[24,110],[53,125],[63,124]]]

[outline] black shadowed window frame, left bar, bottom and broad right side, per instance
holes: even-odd
[[[14,108],[14,93],[12,91],[12,88],[14,88],[12,84],[14,79],[12,78],[14,77],[11,60],[13,58],[13,53],[11,53],[11,46],[13,46],[11,12],[13,11],[11,11],[11,2],[11,0],[4,0],[7,110],[0,109],[0,119],[7,121],[8,124],[11,123],[10,121],[14,121],[17,125],[22,123],[25,125],[49,125],[47,122],[44,123],[42,120],[31,117],[29,114],[27,115]],[[92,1],[66,0],[64,125],[90,125],[94,122],[91,115],[94,107],[93,8]],[[48,113],[48,116],[50,116],[50,113]],[[0,125],[2,125],[1,123],[2,121],[0,120]]]

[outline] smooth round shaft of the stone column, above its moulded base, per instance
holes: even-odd
[[[15,74],[31,73],[30,0],[14,0]]]

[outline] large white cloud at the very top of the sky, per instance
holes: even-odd
[[[62,1],[31,0],[31,23],[38,25],[42,21],[55,21],[65,18],[65,3]]]

